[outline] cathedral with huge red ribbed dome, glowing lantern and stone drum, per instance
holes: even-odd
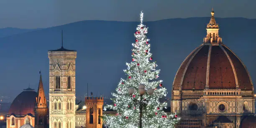
[[[211,12],[203,43],[182,62],[172,87],[177,128],[239,128],[254,113],[251,77],[241,59],[222,42]]]

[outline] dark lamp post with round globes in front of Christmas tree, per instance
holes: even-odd
[[[128,94],[133,94],[135,92],[135,89],[133,87],[128,88]],[[144,84],[140,84],[138,86],[138,93],[140,94],[140,102],[139,102],[139,108],[140,108],[140,127],[142,128],[142,106],[147,106],[146,104],[143,104],[142,102],[142,96],[147,92],[148,95],[152,95],[154,93],[154,89],[152,88],[148,88],[147,90],[145,89],[145,85]],[[133,101],[133,103],[136,101]],[[147,101],[148,102],[148,101]],[[135,106],[135,103],[134,103]]]

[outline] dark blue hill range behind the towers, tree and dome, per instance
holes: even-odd
[[[205,26],[210,17],[168,19],[145,22],[149,27],[151,52],[161,69],[160,79],[171,91],[172,82],[182,61],[202,43]],[[246,64],[253,81],[256,80],[256,20],[245,18],[216,18],[220,37]],[[28,84],[38,86],[41,69],[45,91],[49,90],[49,60],[47,51],[61,46],[77,50],[77,96],[89,92],[95,96],[110,96],[121,77],[125,62],[131,62],[131,43],[138,22],[82,21],[58,27],[35,30],[0,38],[0,93],[18,95]],[[14,88],[15,87],[15,88]],[[14,98],[14,97],[13,97]]]

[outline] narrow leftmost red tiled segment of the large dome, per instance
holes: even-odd
[[[181,66],[179,67],[175,78],[174,78],[174,82],[173,82],[173,90],[179,90],[179,85],[181,83],[181,78],[182,78],[182,74],[187,66],[187,63],[189,62],[189,59],[192,57],[192,54],[195,53],[195,51],[197,51],[197,49],[199,49],[202,46],[197,47],[196,49],[194,49],[187,57],[186,59],[182,62]]]

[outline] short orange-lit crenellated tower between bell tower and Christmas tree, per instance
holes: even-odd
[[[86,128],[102,128],[103,97],[85,97]]]

